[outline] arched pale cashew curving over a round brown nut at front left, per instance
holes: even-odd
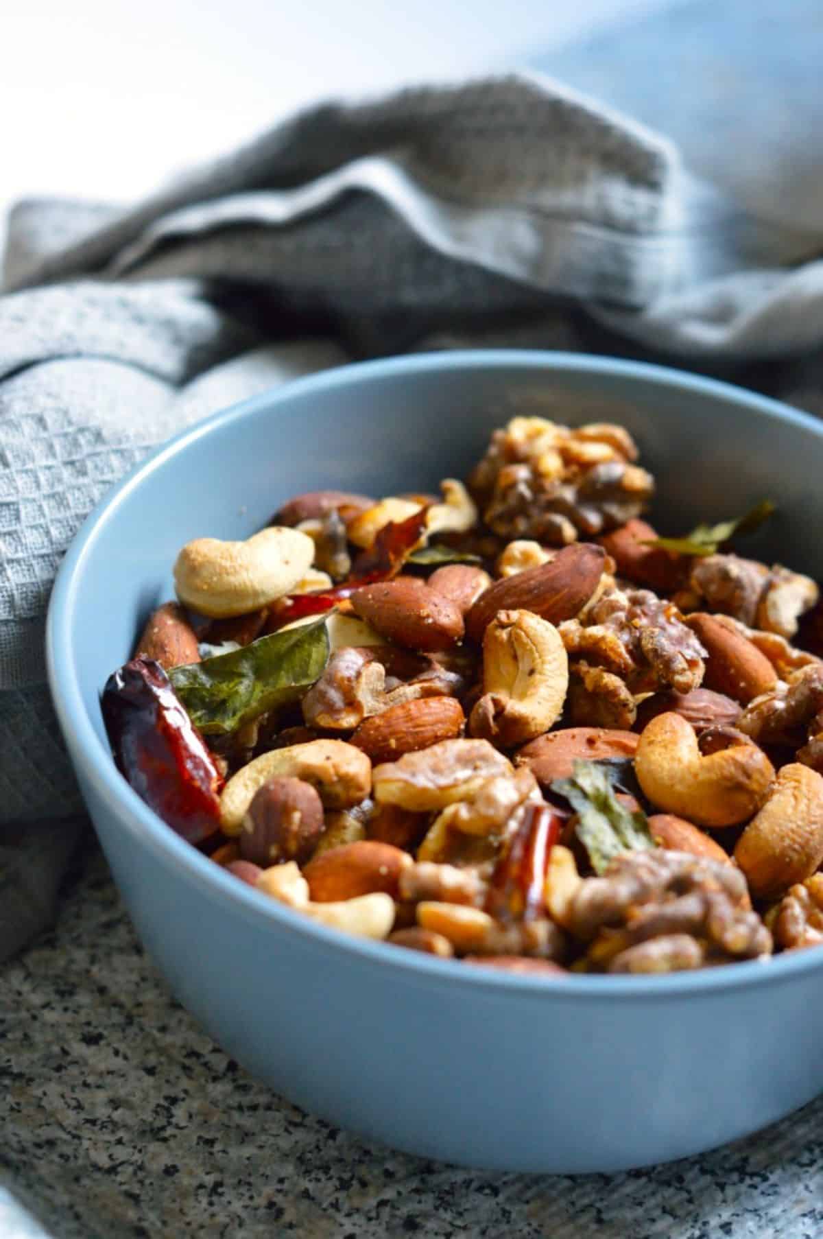
[[[347,809],[366,799],[372,763],[366,753],[342,740],[310,740],[262,753],[232,776],[221,795],[224,834],[239,835],[252,797],[266,779],[293,776],[311,783],[330,809]]]

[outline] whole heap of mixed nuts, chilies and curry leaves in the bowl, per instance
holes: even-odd
[[[238,880],[441,958],[823,944],[817,586],[729,550],[751,517],[658,538],[637,458],[621,426],[514,418],[466,486],[188,543],[103,691],[120,771]]]

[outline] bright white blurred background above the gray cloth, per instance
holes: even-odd
[[[128,201],[295,105],[523,64],[672,2],[6,0],[0,219],[30,195]]]

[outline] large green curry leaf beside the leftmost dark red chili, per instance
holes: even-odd
[[[191,721],[205,735],[227,735],[299,700],[328,662],[326,618],[169,672]]]

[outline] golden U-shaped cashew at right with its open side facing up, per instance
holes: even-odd
[[[735,745],[704,757],[694,729],[679,714],[646,726],[635,773],[658,809],[700,826],[734,826],[761,807],[775,769],[756,745]]]

